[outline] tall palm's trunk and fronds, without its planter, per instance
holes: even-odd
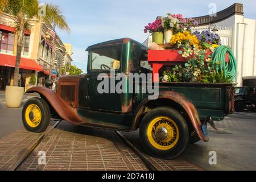
[[[61,30],[65,30],[68,32],[70,31],[70,29],[59,6],[46,4],[45,15],[39,16],[38,0],[0,0],[0,2],[1,10],[7,13],[7,15],[9,15],[16,24],[16,35],[18,39],[13,86],[18,86],[20,56],[22,54],[24,32],[30,28],[29,19],[43,19],[44,22],[52,24],[53,27],[56,26],[59,27]]]

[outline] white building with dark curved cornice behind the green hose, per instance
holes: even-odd
[[[237,60],[237,86],[243,85],[243,80],[250,80],[250,86],[256,86],[256,20],[245,18],[243,5],[234,3],[222,10],[216,16],[195,17],[199,26],[192,31],[216,29],[221,37],[221,44],[229,46]],[[148,37],[145,45],[152,42]]]

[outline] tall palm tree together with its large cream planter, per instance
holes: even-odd
[[[27,3],[26,3],[27,2]],[[13,86],[6,86],[6,105],[7,107],[19,107],[24,94],[24,88],[18,86],[19,80],[19,65],[22,54],[22,45],[24,41],[24,33],[30,28],[29,19],[38,18],[43,19],[48,24],[54,24],[62,30],[69,31],[69,27],[61,10],[58,6],[46,4],[46,12],[39,16],[39,1],[22,0],[5,0],[0,3],[0,13],[3,11],[7,16],[15,21],[16,26],[16,64],[14,70]]]

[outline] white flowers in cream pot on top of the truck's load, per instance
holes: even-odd
[[[174,18],[170,13],[167,13],[167,17],[163,17],[162,27],[164,28],[164,43],[169,44],[171,42],[172,35],[174,35],[174,28],[176,29],[180,21]]]

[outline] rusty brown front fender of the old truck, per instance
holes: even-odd
[[[84,123],[77,114],[77,109],[73,109],[68,105],[59,95],[53,92],[51,89],[42,86],[36,86],[27,90],[26,93],[39,93],[40,96],[48,101],[48,103],[55,109],[59,116],[68,122],[73,124]]]

